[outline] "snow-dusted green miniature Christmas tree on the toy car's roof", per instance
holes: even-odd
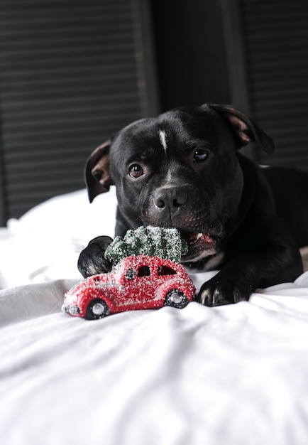
[[[181,239],[179,230],[141,226],[136,230],[128,230],[124,237],[116,237],[107,247],[105,257],[112,262],[119,262],[131,255],[144,254],[180,262],[187,250],[187,242]]]

